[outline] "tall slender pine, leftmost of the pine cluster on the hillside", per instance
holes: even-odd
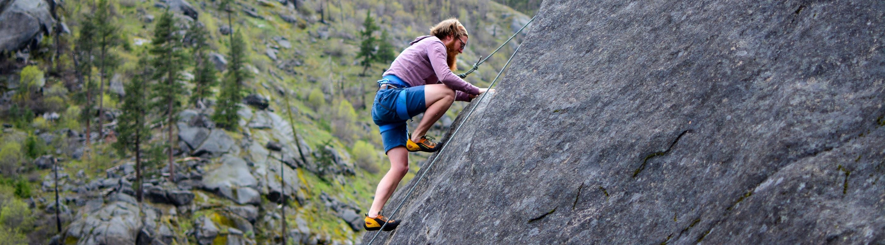
[[[80,37],[77,38],[76,48],[72,55],[74,71],[77,74],[77,78],[80,79],[83,89],[86,90],[86,101],[81,110],[81,120],[86,122],[86,145],[89,146],[89,143],[91,143],[90,136],[92,135],[89,123],[92,123],[92,88],[94,86],[89,81],[92,80],[92,67],[95,64],[93,63],[92,56],[96,48],[96,26],[90,16],[84,16],[80,24]]]

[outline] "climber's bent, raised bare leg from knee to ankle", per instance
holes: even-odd
[[[417,141],[419,137],[427,134],[430,126],[443,117],[446,111],[451,107],[451,103],[455,101],[455,91],[447,85],[424,85],[424,104],[427,110],[421,117],[421,123],[418,128],[412,132],[412,141]]]

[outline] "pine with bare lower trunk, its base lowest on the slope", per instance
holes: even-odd
[[[142,202],[142,143],[150,137],[144,116],[144,112],[150,109],[144,94],[146,87],[142,75],[136,75],[127,84],[117,126],[117,142],[113,145],[121,156],[126,152],[135,154],[135,198],[138,202]]]

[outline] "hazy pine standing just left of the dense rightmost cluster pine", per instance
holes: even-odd
[[[212,97],[212,87],[218,85],[215,76],[215,66],[209,61],[205,48],[209,33],[204,26],[194,23],[188,31],[189,40],[193,47],[192,53],[196,56],[196,69],[194,74],[194,93],[191,94],[190,103],[197,108],[204,108],[204,100]]]

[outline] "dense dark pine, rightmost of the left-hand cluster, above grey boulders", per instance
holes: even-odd
[[[227,73],[221,85],[218,103],[216,104],[215,114],[212,115],[212,121],[219,127],[227,130],[235,130],[236,125],[240,122],[240,115],[236,112],[240,110],[240,101],[243,98],[243,82],[251,78],[249,71],[246,71],[246,42],[242,40],[242,31],[237,30],[231,34],[233,39],[230,45],[230,63],[227,66]]]

